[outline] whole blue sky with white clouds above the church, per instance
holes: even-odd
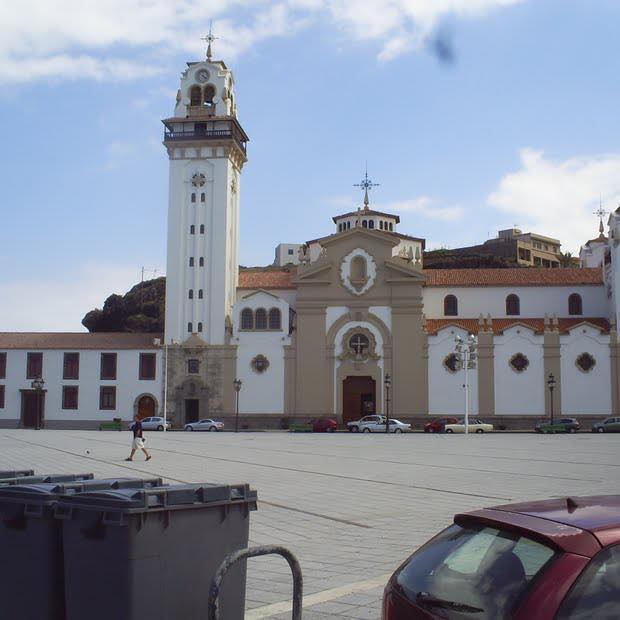
[[[617,0],[3,2],[0,331],[82,331],[165,273],[161,119],[210,20],[250,137],[242,265],[333,232],[366,164],[429,248],[517,225],[577,254],[620,204]]]

